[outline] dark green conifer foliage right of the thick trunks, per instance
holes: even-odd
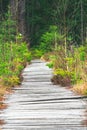
[[[59,26],[59,32],[69,37],[67,41],[71,38],[73,45],[80,45],[81,35],[84,42],[86,40],[86,12],[86,0],[26,1],[26,26],[31,45],[39,44],[50,25]]]

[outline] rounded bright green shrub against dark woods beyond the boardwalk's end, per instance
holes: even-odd
[[[55,48],[55,42],[59,42],[60,39],[62,39],[62,36],[58,32],[58,27],[51,25],[47,32],[41,36],[39,49],[42,50],[43,53],[50,52]]]

